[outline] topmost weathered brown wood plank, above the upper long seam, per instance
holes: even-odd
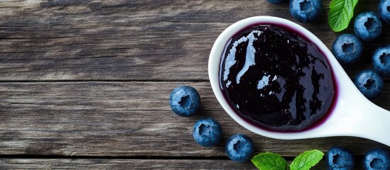
[[[377,2],[359,1],[355,13],[376,11]],[[329,3],[324,1],[325,11]],[[295,21],[288,4],[265,0],[2,1],[0,81],[207,80],[217,35],[242,18],[261,15]],[[340,35],[330,30],[325,14],[300,25],[327,47]],[[390,43],[390,27],[383,33],[364,43],[364,60],[346,67],[351,76],[372,68],[372,51]]]

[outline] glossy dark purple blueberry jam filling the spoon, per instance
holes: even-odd
[[[232,37],[220,86],[244,120],[275,131],[300,131],[327,114],[335,88],[325,55],[282,26],[251,26]]]

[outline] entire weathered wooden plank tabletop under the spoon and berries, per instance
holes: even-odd
[[[357,13],[379,1],[359,1]],[[332,45],[330,1],[320,21],[300,25]],[[241,132],[255,153],[292,160],[307,149],[352,149],[357,160],[370,147],[357,137],[273,140],[239,126],[217,102],[207,76],[217,36],[250,16],[291,21],[288,4],[256,1],[14,1],[0,2],[0,169],[256,169],[224,153],[227,138]],[[296,21],[295,21],[296,22]],[[342,33],[353,33],[350,28]],[[390,43],[390,26],[364,43],[350,77],[372,68],[372,52]],[[168,103],[177,86],[195,87],[197,115],[182,118]],[[374,100],[390,110],[390,80]],[[369,114],[369,113],[367,113]],[[224,137],[216,147],[195,143],[196,120],[212,117]],[[389,147],[386,147],[389,149]],[[360,162],[357,162],[357,169]],[[314,169],[324,169],[324,161]]]

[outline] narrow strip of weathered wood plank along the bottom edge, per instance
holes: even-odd
[[[323,164],[313,170],[321,168]],[[0,159],[0,169],[256,169],[256,166],[215,159]]]

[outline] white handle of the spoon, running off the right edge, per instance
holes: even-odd
[[[353,86],[349,93],[340,95],[334,113],[308,137],[363,137],[390,146],[390,111],[369,101]]]

